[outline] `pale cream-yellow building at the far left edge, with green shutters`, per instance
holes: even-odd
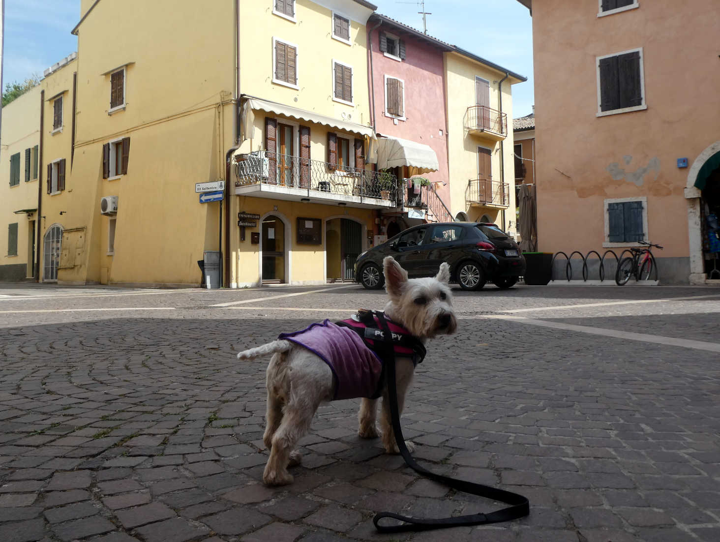
[[[37,239],[40,86],[2,108],[0,281],[32,278]]]

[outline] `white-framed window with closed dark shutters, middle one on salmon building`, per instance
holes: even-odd
[[[598,58],[598,117],[647,109],[642,49]]]

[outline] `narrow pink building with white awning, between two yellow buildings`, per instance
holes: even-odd
[[[446,209],[450,191],[444,53],[454,48],[380,14],[370,17],[367,28],[378,168],[392,169],[397,179],[421,176],[431,181],[419,189],[406,184],[402,207],[384,219],[392,237],[418,220],[452,220]]]

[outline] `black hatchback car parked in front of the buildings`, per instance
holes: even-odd
[[[410,278],[435,276],[440,264],[450,265],[451,281],[464,290],[478,290],[492,281],[510,288],[525,273],[518,244],[495,224],[436,222],[411,227],[355,261],[355,281],[367,289],[384,285],[382,258],[392,256]]]

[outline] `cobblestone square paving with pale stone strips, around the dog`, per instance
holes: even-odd
[[[233,291],[0,284],[0,542],[720,540],[720,291],[456,292],[403,428],[429,469],[528,518],[378,535],[372,515],[494,510],[320,407],[294,484],[261,485],[266,361],[235,353],[381,308],[356,285]]]

